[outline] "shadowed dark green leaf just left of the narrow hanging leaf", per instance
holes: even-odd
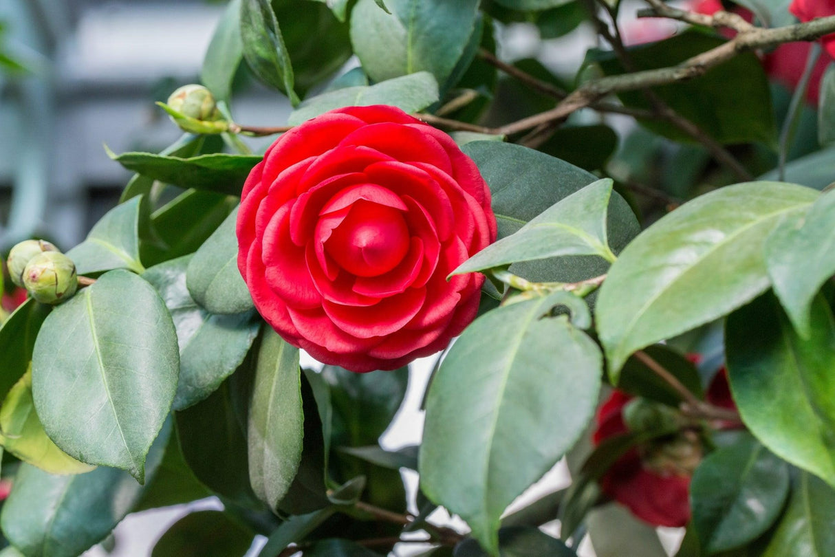
[[[175,417],[183,457],[200,483],[236,504],[260,508],[250,486],[245,425],[233,408],[230,381]]]

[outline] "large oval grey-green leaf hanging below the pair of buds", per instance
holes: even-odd
[[[109,271],[43,323],[32,362],[35,408],[64,452],[124,468],[141,484],[179,364],[174,323],[154,287]]]

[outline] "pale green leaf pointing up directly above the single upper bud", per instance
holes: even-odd
[[[232,79],[244,56],[244,43],[240,38],[240,0],[231,0],[215,28],[209,48],[203,58],[200,81],[211,91],[216,100],[228,100]]]

